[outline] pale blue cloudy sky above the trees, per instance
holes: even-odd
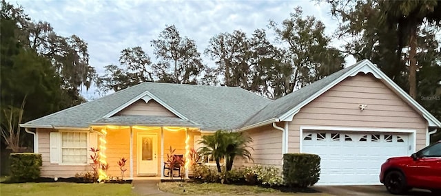
[[[222,32],[242,30],[250,35],[258,28],[267,29],[269,20],[281,23],[300,6],[304,16],[313,15],[322,21],[325,33],[332,36],[338,21],[329,14],[326,3],[316,1],[141,1],[141,0],[23,0],[10,1],[23,6],[34,21],[47,21],[61,36],[75,34],[88,43],[90,65],[97,74],[105,65],[118,65],[121,50],[141,46],[154,56],[150,41],[158,38],[165,25],[175,25],[181,36],[196,41],[198,51],[208,46],[209,39]],[[267,31],[269,39],[274,38]],[[340,47],[341,41],[332,45]],[[347,58],[347,65],[355,63]],[[212,63],[203,55],[203,61]],[[96,88],[81,94],[88,100],[99,96]]]

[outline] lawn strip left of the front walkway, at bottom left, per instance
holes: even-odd
[[[0,195],[134,195],[131,184],[78,184],[68,182],[0,184]]]

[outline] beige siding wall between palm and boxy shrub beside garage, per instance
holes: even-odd
[[[277,125],[283,127],[281,123]],[[245,133],[253,140],[251,146],[254,150],[252,150],[251,153],[254,164],[278,166],[282,164],[282,131],[274,129],[272,124],[270,124],[264,127],[250,129]],[[253,164],[253,162],[235,161],[235,166],[249,166]]]

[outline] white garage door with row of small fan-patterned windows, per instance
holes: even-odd
[[[380,184],[380,166],[389,157],[410,154],[407,133],[305,131],[302,153],[320,155],[317,185]]]

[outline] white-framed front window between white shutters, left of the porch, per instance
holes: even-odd
[[[88,133],[61,133],[61,162],[75,164],[88,162]]]

